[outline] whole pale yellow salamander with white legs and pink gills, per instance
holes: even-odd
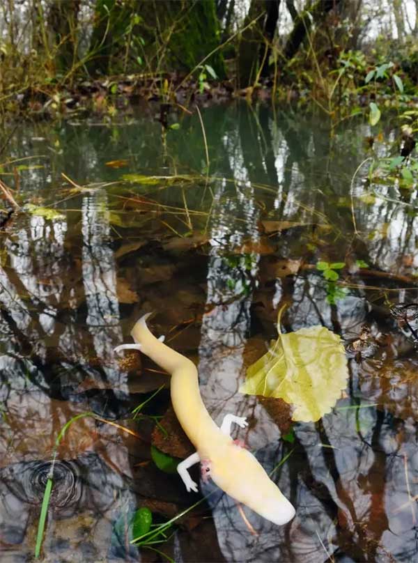
[[[123,344],[116,352],[141,350],[162,369],[171,373],[171,402],[176,416],[196,447],[196,453],[178,464],[178,473],[187,491],[197,491],[187,469],[201,462],[203,478],[208,475],[232,498],[246,504],[275,524],[286,524],[295,516],[292,504],[268,477],[256,458],[237,445],[230,436],[231,424],[247,426],[244,417],[226,415],[221,427],[213,422],[199,392],[196,367],[187,357],[157,339],[146,325],[146,314],[135,323],[131,335],[135,344]]]

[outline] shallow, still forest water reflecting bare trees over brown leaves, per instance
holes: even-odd
[[[359,167],[389,154],[396,125],[370,148],[362,119],[332,136],[323,116],[214,106],[205,144],[196,114],[173,114],[166,134],[158,115],[10,130],[17,162],[1,178],[18,177],[30,206],[0,231],[1,561],[33,560],[56,438],[86,412],[56,449],[45,561],[417,560],[415,192],[374,187]],[[343,263],[338,284],[318,261]],[[285,304],[284,332],[323,325],[346,346],[347,388],[319,422],[238,392]],[[151,456],[192,452],[167,414],[168,378],[113,352],[148,311],[198,365],[212,418],[248,417],[237,436],[276,469],[288,525],[201,483],[209,498],[167,541],[130,544],[139,507],[161,523],[201,499]]]

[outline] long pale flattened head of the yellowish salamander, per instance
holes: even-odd
[[[292,504],[246,449],[231,443],[227,455],[211,458],[210,477],[232,498],[274,524],[286,524],[295,516]]]

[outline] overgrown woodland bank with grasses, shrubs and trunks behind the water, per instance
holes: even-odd
[[[334,120],[366,108],[374,125],[379,100],[416,94],[406,0],[10,0],[1,11],[3,118],[113,116],[133,96],[183,105],[238,91],[314,101]]]

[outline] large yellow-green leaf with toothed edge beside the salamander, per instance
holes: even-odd
[[[347,385],[346,354],[339,336],[325,327],[280,334],[247,369],[240,392],[283,399],[292,419],[315,422],[330,412]]]

